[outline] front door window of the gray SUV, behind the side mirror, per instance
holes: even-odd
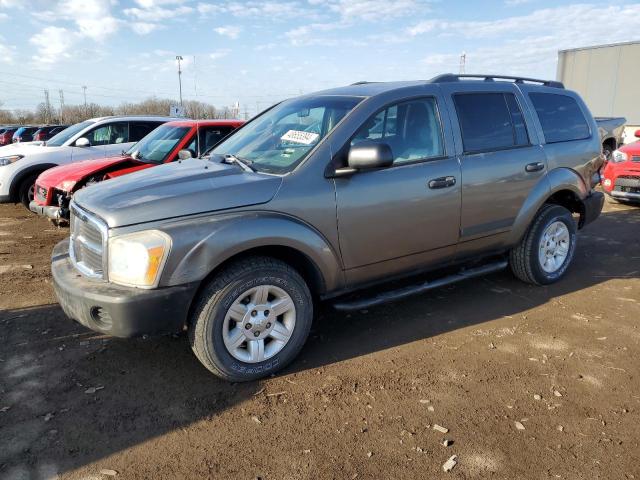
[[[363,140],[387,143],[394,164],[442,157],[444,143],[436,100],[421,98],[381,110],[356,132],[351,145]]]

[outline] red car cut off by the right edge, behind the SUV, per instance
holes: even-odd
[[[640,130],[636,130],[635,136],[640,138]],[[640,202],[640,142],[613,152],[602,169],[602,187],[614,200]]]

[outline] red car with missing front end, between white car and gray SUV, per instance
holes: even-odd
[[[68,220],[74,192],[94,183],[178,160],[181,150],[197,157],[244,122],[240,120],[179,120],[165,123],[121,156],[85,160],[44,171],[35,184],[32,212],[52,220]]]

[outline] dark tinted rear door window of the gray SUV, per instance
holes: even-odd
[[[512,93],[459,93],[453,101],[466,153],[529,145],[522,110]]]

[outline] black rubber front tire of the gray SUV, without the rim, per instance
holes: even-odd
[[[223,340],[227,310],[243,292],[259,285],[284,290],[296,309],[295,327],[282,350],[259,363],[233,357]],[[270,257],[248,257],[221,271],[196,298],[189,322],[189,341],[200,362],[218,377],[243,382],[271,375],[300,352],[313,321],[313,300],[303,278],[286,263]]]

